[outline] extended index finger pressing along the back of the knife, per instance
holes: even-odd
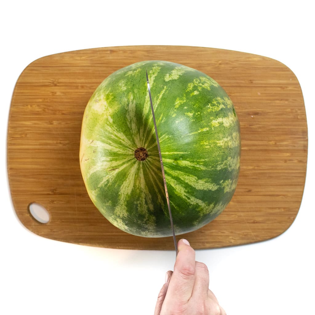
[[[178,255],[168,288],[168,296],[179,303],[190,299],[196,279],[195,251],[185,241],[178,242]]]

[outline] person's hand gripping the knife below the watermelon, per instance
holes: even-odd
[[[195,251],[188,241],[178,242],[174,272],[168,271],[154,315],[226,315],[209,290],[209,271],[195,261]]]

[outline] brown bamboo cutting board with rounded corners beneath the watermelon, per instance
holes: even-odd
[[[141,60],[168,60],[214,78],[231,97],[242,155],[232,201],[214,221],[178,236],[195,249],[258,242],[295,219],[306,176],[307,125],[293,72],[279,61],[237,51],[189,46],[85,49],[35,60],[12,97],[7,161],[14,209],[30,231],[54,240],[124,249],[174,249],[172,238],[142,238],[112,226],[85,190],[79,165],[81,121],[96,87]],[[39,223],[30,203],[50,221]]]

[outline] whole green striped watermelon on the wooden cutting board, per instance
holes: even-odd
[[[150,60],[107,77],[83,116],[83,180],[96,208],[114,226],[143,237],[172,235],[146,70],[175,233],[191,232],[230,202],[240,168],[232,101],[198,70]]]

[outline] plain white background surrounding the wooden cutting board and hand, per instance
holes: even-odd
[[[198,250],[228,315],[314,311],[314,23],[310,1],[8,1],[1,5],[0,313],[153,314],[173,251],[85,247],[32,234],[14,214],[6,134],[15,82],[33,60],[122,45],[190,45],[281,61],[297,76],[309,151],[299,214],[270,241]],[[208,3],[208,4],[207,4]],[[279,126],[281,128],[281,126]]]

